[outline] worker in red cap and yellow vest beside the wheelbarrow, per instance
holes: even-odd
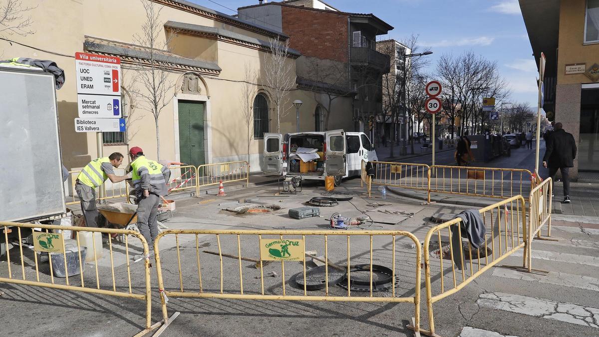
[[[153,251],[154,239],[158,236],[158,204],[162,195],[167,195],[164,166],[149,160],[141,148],[134,146],[129,150],[131,173],[137,204],[137,228],[146,238],[150,251]],[[137,260],[137,255],[134,257]]]

